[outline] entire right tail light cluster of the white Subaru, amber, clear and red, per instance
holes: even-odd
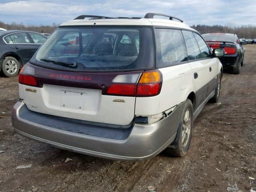
[[[112,81],[108,90],[109,95],[118,96],[155,96],[160,93],[162,86],[162,74],[159,70],[144,71],[140,74],[118,75]],[[138,82],[138,84],[137,84]]]

